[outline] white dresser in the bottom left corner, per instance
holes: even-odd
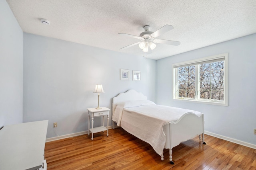
[[[4,126],[0,130],[0,170],[46,170],[47,127],[48,120]]]

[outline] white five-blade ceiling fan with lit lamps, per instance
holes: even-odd
[[[167,45],[180,45],[179,41],[171,41],[171,40],[165,40],[165,39],[155,39],[156,37],[162,35],[163,33],[166,33],[167,31],[170,31],[173,29],[172,25],[164,25],[163,27],[161,27],[160,29],[158,29],[155,32],[149,31],[150,30],[150,26],[149,25],[145,25],[144,27],[144,32],[140,33],[140,36],[136,36],[136,35],[130,35],[130,34],[126,34],[126,33],[118,33],[118,35],[124,35],[124,36],[128,36],[128,37],[132,37],[132,38],[136,38],[139,39],[140,41],[137,43],[133,43],[131,45],[127,45],[126,47],[120,48],[120,49],[126,49],[129,47],[132,47],[134,45],[139,44],[140,49],[142,49],[143,52],[147,53],[148,52],[148,47],[150,47],[150,49],[154,49],[156,48],[156,44],[155,43],[159,43],[159,44],[167,44]]]

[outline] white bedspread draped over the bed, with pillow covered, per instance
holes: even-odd
[[[176,122],[186,113],[202,115],[198,111],[156,105],[149,101],[138,105],[130,102],[119,104],[112,119],[128,133],[149,143],[161,155],[166,141],[164,124]]]

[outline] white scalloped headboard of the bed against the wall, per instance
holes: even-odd
[[[128,100],[147,100],[147,96],[140,92],[136,92],[136,90],[128,90],[125,93],[120,93],[118,96],[114,97],[112,100],[112,113],[114,113],[116,109],[116,104],[119,102],[125,102]]]

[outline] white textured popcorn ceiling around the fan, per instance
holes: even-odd
[[[161,59],[256,33],[256,0],[6,0],[22,30],[112,51],[143,56],[138,42],[118,33],[139,36],[144,25],[158,37],[180,41],[157,44],[148,54]],[[44,25],[40,19],[50,21]]]

